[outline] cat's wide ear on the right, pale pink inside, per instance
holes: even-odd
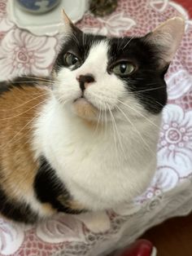
[[[170,64],[185,33],[185,20],[175,17],[159,25],[144,37],[145,42],[155,47],[159,57],[159,67]]]

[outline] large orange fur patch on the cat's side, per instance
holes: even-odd
[[[33,193],[37,163],[30,145],[32,125],[48,90],[13,87],[0,95],[0,183],[15,199]]]

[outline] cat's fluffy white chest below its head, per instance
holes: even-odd
[[[90,210],[103,210],[143,192],[156,161],[150,153],[145,154],[141,143],[138,148],[130,139],[124,139],[122,151],[120,145],[116,147],[113,134],[103,131],[96,135],[76,118],[72,126],[62,115],[46,108],[37,128],[35,147],[39,155],[43,152],[76,201]]]

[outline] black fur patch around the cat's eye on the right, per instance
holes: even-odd
[[[125,59],[137,67],[129,77],[121,79],[147,111],[160,113],[167,103],[164,74],[168,70],[168,65],[159,68],[158,49],[147,44],[143,38],[112,38],[108,58],[109,65]]]

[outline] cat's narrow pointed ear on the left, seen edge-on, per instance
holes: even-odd
[[[62,24],[60,33],[64,34],[65,36],[70,36],[72,33],[81,33],[80,29],[77,29],[72,21],[68,18],[68,15],[64,10],[62,10]]]

